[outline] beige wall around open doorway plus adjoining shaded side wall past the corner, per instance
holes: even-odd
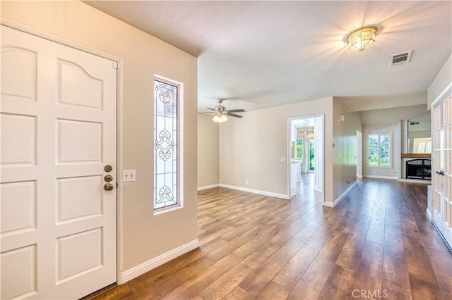
[[[332,205],[356,180],[356,131],[362,125],[359,113],[348,113],[331,97],[249,111],[242,119],[220,124],[220,183],[288,195],[287,120],[321,114],[325,115],[325,201]],[[341,114],[345,122],[340,121]],[[280,162],[282,157],[286,163]]]

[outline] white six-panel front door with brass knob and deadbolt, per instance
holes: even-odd
[[[116,82],[112,61],[1,26],[1,299],[116,282]]]

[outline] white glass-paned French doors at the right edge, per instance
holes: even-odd
[[[432,106],[433,220],[452,246],[452,96]]]

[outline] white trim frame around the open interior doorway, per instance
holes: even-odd
[[[317,114],[317,115],[302,115],[299,117],[295,117],[295,118],[288,118],[287,119],[287,199],[291,199],[292,198],[292,190],[291,190],[291,185],[292,185],[292,166],[291,166],[291,158],[292,158],[292,153],[291,153],[291,141],[292,141],[292,121],[293,120],[302,120],[302,119],[308,119],[308,118],[321,118],[322,119],[322,155],[321,155],[321,160],[323,161],[322,163],[322,189],[321,189],[321,193],[322,193],[322,205],[325,204],[325,114],[321,113],[321,114]]]

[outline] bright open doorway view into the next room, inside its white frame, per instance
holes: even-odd
[[[323,198],[323,122],[323,115],[289,119],[290,196],[297,194],[302,175],[313,174],[312,188],[321,192]]]

